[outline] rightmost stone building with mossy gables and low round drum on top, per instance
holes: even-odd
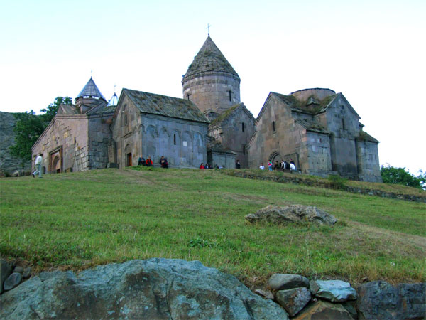
[[[378,141],[363,131],[359,119],[344,95],[333,90],[270,92],[256,119],[249,164],[293,159],[305,174],[381,181]]]

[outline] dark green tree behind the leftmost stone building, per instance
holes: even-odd
[[[55,117],[60,105],[72,105],[72,98],[56,97],[53,103],[40,110],[42,114],[35,114],[33,110],[13,114],[17,120],[13,128],[15,144],[10,148],[13,156],[31,160],[31,147]]]

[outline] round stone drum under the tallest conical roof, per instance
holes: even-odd
[[[182,82],[183,98],[194,102],[202,112],[212,109],[222,113],[240,102],[239,84],[238,76],[231,73],[204,72]]]

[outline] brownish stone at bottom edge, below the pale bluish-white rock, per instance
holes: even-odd
[[[305,309],[300,312],[292,320],[320,320],[320,319],[333,319],[333,320],[351,320],[348,311],[344,309],[341,304],[332,304],[324,300],[317,302],[310,302]]]

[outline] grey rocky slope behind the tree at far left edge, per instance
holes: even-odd
[[[12,174],[14,171],[31,171],[31,161],[11,155],[10,147],[15,144],[16,118],[13,113],[0,111],[0,176]]]

